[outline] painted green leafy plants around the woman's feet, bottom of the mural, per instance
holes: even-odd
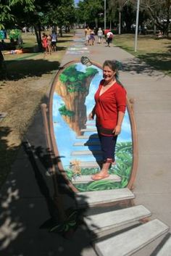
[[[109,170],[109,174],[117,174],[122,179],[120,182],[113,181],[92,181],[88,184],[75,185],[79,191],[96,191],[96,190],[107,190],[107,189],[121,189],[128,185],[130,180],[132,164],[133,164],[133,147],[132,142],[120,142],[116,146],[116,160],[117,165]],[[81,175],[92,175],[98,171],[98,168],[82,169]],[[73,177],[72,170],[67,170],[67,176],[70,180]]]

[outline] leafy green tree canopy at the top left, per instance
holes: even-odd
[[[4,0],[0,12],[0,29],[23,24],[62,26],[75,21],[74,0]]]

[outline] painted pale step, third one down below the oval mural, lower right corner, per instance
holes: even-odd
[[[160,220],[151,220],[129,231],[125,231],[117,236],[112,236],[94,244],[99,256],[129,256],[145,247],[159,236],[166,234],[169,227]],[[126,241],[123,243],[123,241]]]

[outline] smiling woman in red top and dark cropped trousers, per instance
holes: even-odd
[[[109,177],[109,167],[114,162],[117,136],[121,132],[122,120],[126,108],[126,91],[118,80],[117,61],[106,60],[103,65],[103,77],[94,96],[95,106],[90,114],[96,115],[96,127],[101,142],[103,164],[101,171],[91,178],[95,181]]]

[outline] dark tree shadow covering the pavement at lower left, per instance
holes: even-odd
[[[96,255],[88,228],[83,223],[83,215],[88,210],[86,196],[71,191],[67,181],[57,172],[60,207],[70,218],[63,223],[60,221],[53,179],[46,176],[51,168],[50,155],[49,149],[28,146],[28,141],[23,141],[20,147],[0,194],[1,256],[80,256],[85,249],[88,255]],[[84,205],[81,209],[78,200]]]

